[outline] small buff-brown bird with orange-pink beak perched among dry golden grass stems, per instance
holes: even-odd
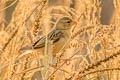
[[[47,34],[48,42],[52,42],[54,47],[56,48],[55,53],[57,53],[69,39],[71,35],[70,30],[75,24],[77,24],[77,21],[71,19],[68,16],[64,16],[57,21],[55,28]],[[44,35],[37,41],[35,41],[35,43],[32,45],[32,49],[44,48],[45,40],[46,36]],[[21,48],[21,50],[25,50],[27,49],[27,47],[23,47]],[[28,48],[30,49],[31,47]]]

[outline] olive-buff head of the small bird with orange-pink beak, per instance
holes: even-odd
[[[68,29],[71,29],[71,27],[75,24],[77,24],[77,22],[72,20],[71,18],[62,17],[60,20],[58,20],[58,22],[56,24],[56,29],[68,30]]]

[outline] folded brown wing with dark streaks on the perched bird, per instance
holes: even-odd
[[[48,34],[48,40],[52,41],[53,43],[57,42],[60,40],[60,38],[63,37],[63,33],[61,30],[53,30]],[[34,49],[39,49],[45,46],[45,36],[41,37],[40,39],[38,39],[34,45],[33,48]]]

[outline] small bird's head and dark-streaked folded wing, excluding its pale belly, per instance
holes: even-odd
[[[61,38],[67,37],[69,34],[67,35],[65,32],[70,31],[74,23],[75,22],[69,17],[61,18],[57,22],[56,28],[48,34],[48,40],[52,41],[54,44],[58,42]],[[45,36],[43,36],[33,44],[34,49],[42,48],[44,46],[45,46]]]

